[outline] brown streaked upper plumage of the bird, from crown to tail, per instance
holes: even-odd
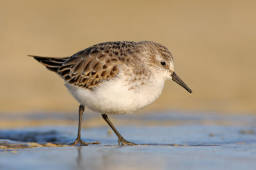
[[[142,41],[140,43],[132,41],[100,43],[81,50],[71,57],[33,57],[49,70],[59,74],[71,85],[92,89],[102,81],[116,76],[118,65],[135,67],[136,70],[134,72],[136,74],[145,74],[148,66],[143,66],[143,57],[141,55],[156,54],[154,49],[145,48],[146,45],[157,46],[159,53],[165,55],[166,59],[168,57],[172,59],[172,54],[168,52],[167,48],[150,41]],[[148,57],[148,59],[150,58]],[[152,66],[153,63],[154,60],[148,64]]]

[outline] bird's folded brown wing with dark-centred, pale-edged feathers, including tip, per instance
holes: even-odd
[[[95,45],[77,52],[71,57],[54,58],[30,55],[65,81],[78,87],[92,89],[104,80],[116,76],[118,64],[115,53],[106,46]]]

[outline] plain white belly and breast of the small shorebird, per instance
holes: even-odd
[[[122,78],[107,81],[96,90],[88,90],[66,84],[77,101],[93,111],[102,114],[125,114],[140,110],[154,102],[164,87],[164,79],[154,79],[152,83],[138,85],[130,89]]]

